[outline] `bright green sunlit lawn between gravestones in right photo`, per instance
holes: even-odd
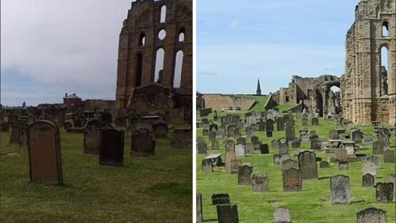
[[[219,122],[215,122],[220,126]],[[296,137],[298,137],[301,120],[296,119],[295,127]],[[202,117],[203,118],[203,117]],[[199,118],[200,120],[200,118]],[[211,116],[209,120],[212,120]],[[245,125],[246,126],[246,125]],[[376,137],[372,126],[357,126],[365,134],[372,134]],[[329,131],[336,128],[333,120],[320,118],[319,126],[306,126],[309,130],[315,130],[320,139],[328,140]],[[250,157],[240,158],[242,162],[251,163],[253,172],[264,171],[268,173],[269,192],[253,193],[251,186],[238,185],[238,174],[230,174],[225,171],[225,167],[215,167],[214,172],[201,171],[201,161],[205,155],[197,155],[197,193],[202,194],[202,212],[204,222],[216,223],[217,213],[216,206],[212,205],[211,195],[218,193],[228,193],[231,204],[238,205],[239,220],[242,223],[271,223],[274,220],[274,211],[278,207],[285,207],[290,210],[291,220],[293,223],[354,223],[356,222],[356,213],[369,207],[376,207],[387,211],[388,222],[395,222],[395,197],[392,203],[377,203],[375,201],[375,188],[362,187],[362,163],[349,163],[348,170],[339,170],[338,164],[330,163],[330,168],[319,168],[319,179],[303,180],[302,191],[284,192],[282,173],[279,165],[273,164],[273,155],[278,154],[271,147],[271,140],[279,139],[285,136],[285,131],[276,131],[274,124],[274,136],[267,138],[265,132],[255,131],[259,141],[267,143],[269,146],[268,155],[260,155],[259,151]],[[244,137],[245,130],[242,131]],[[202,137],[202,129],[197,129],[197,137]],[[212,151],[211,144],[207,136],[203,137],[207,143],[208,154]],[[225,148],[223,141],[219,141],[219,153],[222,153],[223,163],[225,162]],[[250,143],[250,139],[247,139]],[[294,154],[299,149],[292,149],[290,145],[290,157],[297,161]],[[359,150],[357,154],[372,154],[372,145],[363,145],[364,150]],[[301,149],[310,149],[310,142],[301,142]],[[391,137],[391,150],[395,151],[395,136]],[[315,152],[316,157],[322,158],[323,161],[329,161],[333,154],[324,152]],[[395,164],[385,164],[382,155],[381,168],[377,169],[377,182],[388,182],[388,175],[395,172]],[[350,177],[350,196],[351,204],[349,205],[332,205],[330,191],[330,177],[337,174],[344,174]]]

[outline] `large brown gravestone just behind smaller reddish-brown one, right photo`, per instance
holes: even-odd
[[[298,169],[301,171],[302,179],[317,179],[318,167],[316,166],[316,155],[310,151],[298,154]]]

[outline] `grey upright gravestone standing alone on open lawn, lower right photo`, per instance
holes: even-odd
[[[350,204],[349,176],[336,175],[330,178],[331,203]]]

